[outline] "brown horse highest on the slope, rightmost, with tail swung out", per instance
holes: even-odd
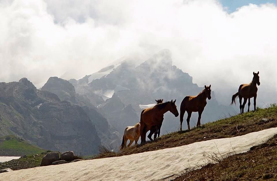
[[[235,93],[232,96],[232,105],[233,103],[236,104],[236,98],[239,97],[239,109],[240,114],[244,113],[244,106],[246,104],[246,101],[248,99],[248,112],[250,107],[250,98],[254,97],[254,111],[256,110],[256,98],[257,98],[257,91],[258,87],[260,85],[260,77],[259,77],[259,71],[258,73],[253,72],[253,79],[249,84],[241,84],[239,86],[239,91]],[[243,98],[243,104],[242,104],[242,98]]]

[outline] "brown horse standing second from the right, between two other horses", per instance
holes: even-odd
[[[199,93],[196,96],[187,96],[183,99],[180,107],[180,131],[182,131],[182,123],[184,119],[184,114],[187,111],[188,112],[188,118],[187,118],[187,123],[188,123],[188,130],[190,130],[190,116],[192,112],[198,112],[198,121],[196,124],[196,127],[201,126],[200,119],[201,119],[201,114],[207,104],[206,99],[211,99],[211,85],[210,86],[205,86],[205,89]]]

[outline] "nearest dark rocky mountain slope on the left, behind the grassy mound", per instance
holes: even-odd
[[[40,91],[26,78],[0,83],[0,136],[18,135],[49,150],[97,153],[95,125],[78,105]]]

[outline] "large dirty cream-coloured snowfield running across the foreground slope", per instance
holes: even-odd
[[[246,152],[276,133],[277,128],[271,128],[122,157],[22,169],[0,174],[0,180],[169,180],[186,168],[205,165],[205,154],[220,152],[226,157]]]

